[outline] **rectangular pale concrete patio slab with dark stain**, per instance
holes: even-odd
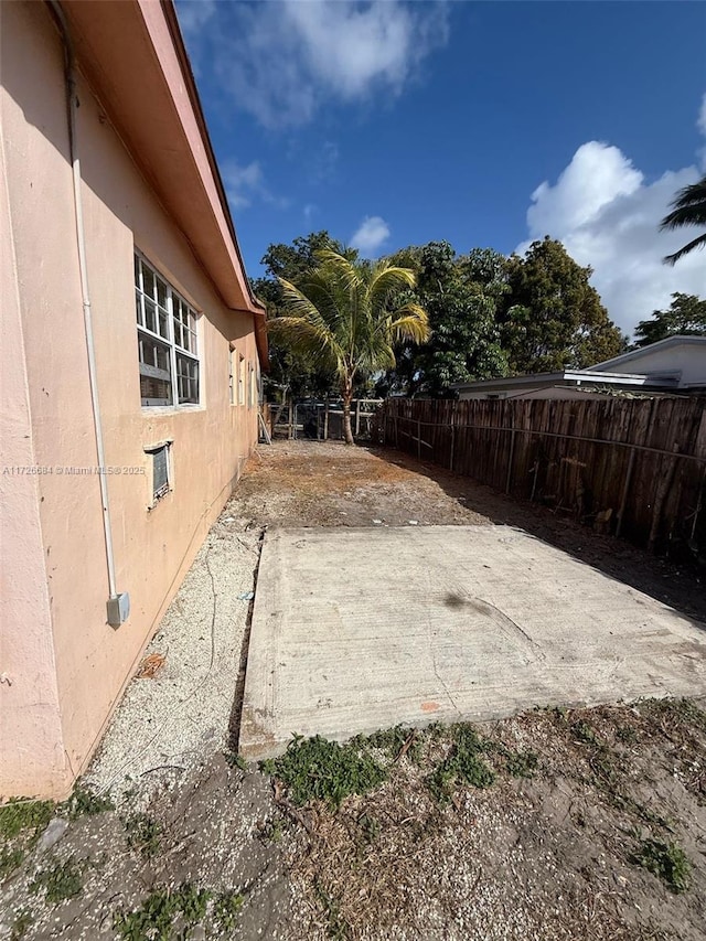
[[[521,530],[279,530],[263,547],[240,751],[704,693],[706,624]]]

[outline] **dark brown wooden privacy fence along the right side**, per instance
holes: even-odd
[[[374,436],[638,545],[706,558],[703,398],[393,398]]]

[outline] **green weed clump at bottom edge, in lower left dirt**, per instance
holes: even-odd
[[[125,941],[170,941],[181,918],[186,927],[202,921],[211,892],[182,883],[178,889],[156,889],[135,911],[117,911],[113,927]]]

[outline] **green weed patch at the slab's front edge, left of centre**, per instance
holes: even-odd
[[[285,782],[297,806],[319,800],[332,810],[349,794],[365,794],[387,777],[360,741],[339,745],[318,735],[295,736],[285,755],[263,761],[260,769]]]

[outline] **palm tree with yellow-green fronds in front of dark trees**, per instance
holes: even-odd
[[[428,340],[429,322],[426,311],[409,295],[404,297],[416,280],[409,268],[389,261],[356,263],[331,249],[315,257],[318,267],[303,276],[299,287],[278,279],[286,312],[270,320],[268,329],[338,375],[345,443],[353,445],[355,381],[393,368],[395,344]]]

